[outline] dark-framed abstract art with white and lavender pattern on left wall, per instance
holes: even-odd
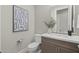
[[[29,15],[28,11],[19,7],[13,6],[13,32],[28,31]]]

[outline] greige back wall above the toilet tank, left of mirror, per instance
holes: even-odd
[[[35,6],[35,32],[45,33],[48,28],[44,24],[44,21],[50,20],[50,10],[53,5],[37,5]]]

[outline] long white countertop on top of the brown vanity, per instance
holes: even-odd
[[[67,34],[44,33],[41,36],[79,44],[79,36],[76,35],[68,36]]]

